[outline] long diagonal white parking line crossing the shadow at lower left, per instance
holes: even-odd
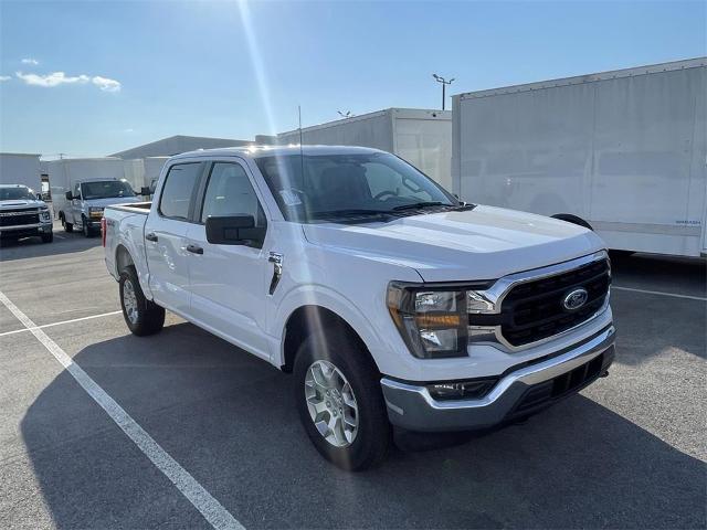
[[[160,445],[140,427],[140,425],[110,398],[98,383],[74,363],[71,357],[62,350],[56,342],[50,339],[39,326],[36,326],[24,312],[0,292],[0,301],[28,328],[28,330],[42,342],[52,356],[66,369],[76,382],[93,398],[93,400],[106,411],[110,420],[130,438],[135,445],[147,456],[155,466],[165,474],[169,480],[181,491],[197,510],[215,529],[238,529],[244,527],[226,510],[221,502],[214,499],[189,471],[175,460]]]

